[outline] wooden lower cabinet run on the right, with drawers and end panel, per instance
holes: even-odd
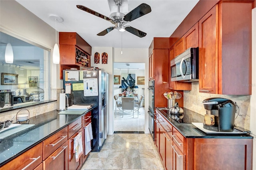
[[[158,111],[155,116],[165,170],[252,170],[252,138],[185,138]]]

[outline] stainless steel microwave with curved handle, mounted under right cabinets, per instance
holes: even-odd
[[[171,62],[171,81],[199,81],[199,51],[198,47],[188,48],[172,59]]]

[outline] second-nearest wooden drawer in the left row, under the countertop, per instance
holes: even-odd
[[[56,149],[58,149],[62,144],[64,144],[68,140],[68,127],[58,131],[56,134],[50,136],[46,140],[44,140],[44,156],[43,160],[45,160],[50,154],[52,154]]]

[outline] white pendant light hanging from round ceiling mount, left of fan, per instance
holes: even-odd
[[[60,49],[57,44],[57,22],[63,22],[63,19],[56,15],[50,15],[50,19],[55,20],[55,44],[53,47],[52,61],[54,64],[60,63]]]

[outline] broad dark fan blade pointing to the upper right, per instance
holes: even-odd
[[[132,21],[137,18],[140,18],[141,16],[144,16],[151,12],[151,8],[148,4],[140,4],[136,8],[134,8],[132,11],[130,11],[128,14],[124,16],[124,21]]]

